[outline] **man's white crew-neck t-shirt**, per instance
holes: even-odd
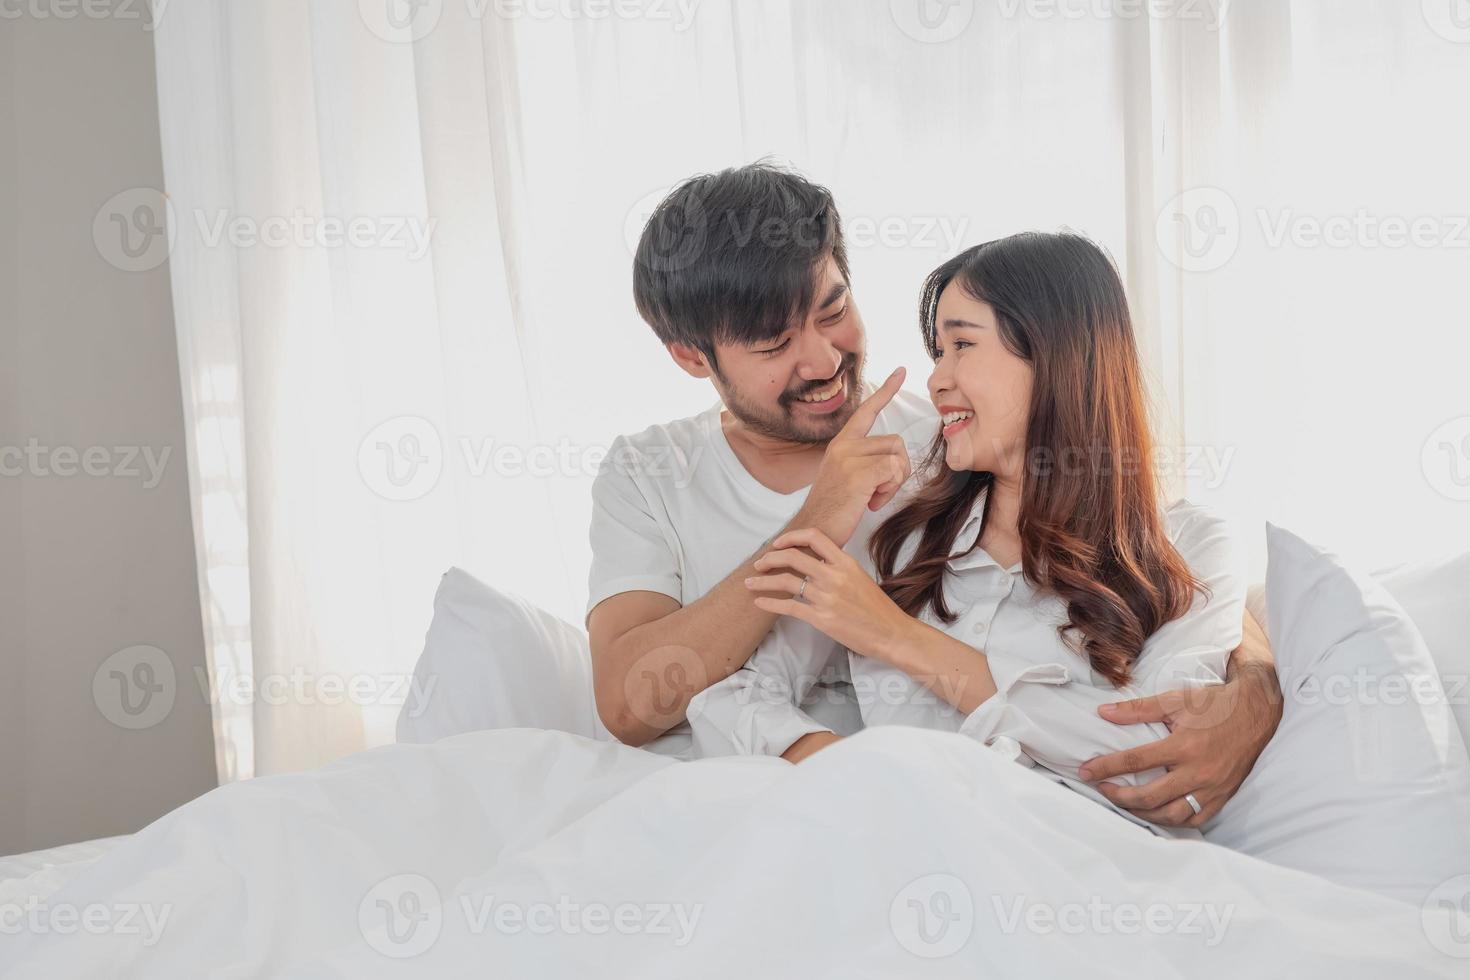
[[[864,398],[872,391],[866,385]],[[588,614],[622,592],[660,592],[688,605],[754,557],[801,508],[810,488],[779,494],[751,476],[725,438],[722,408],[716,403],[697,416],[613,441],[592,482]],[[928,398],[900,391],[879,413],[870,435],[903,436],[917,461],[936,430],[938,416]],[[891,513],[892,504],[864,513],[848,552],[864,551],[872,532]],[[797,633],[807,629],[795,620],[778,620],[776,627]],[[813,717],[856,730],[860,718],[853,698],[831,691],[817,695],[820,705],[807,705]],[[688,745],[689,729],[679,724],[650,748],[682,755]]]

